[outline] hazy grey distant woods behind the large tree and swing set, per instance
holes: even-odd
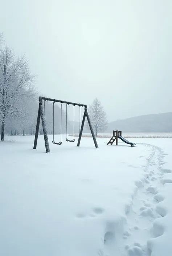
[[[20,101],[22,104],[23,102]],[[19,104],[20,104],[19,103]],[[9,116],[5,120],[5,135],[34,135],[38,114],[38,98],[24,101],[26,108],[23,109],[21,117]],[[44,107],[44,101],[43,101]],[[60,107],[54,106],[54,134],[60,133]],[[45,119],[48,134],[53,134],[53,105],[45,102]],[[69,132],[72,131],[70,123]],[[62,133],[66,132],[66,114],[62,111]],[[0,130],[1,133],[1,130]],[[39,134],[43,134],[42,123],[40,122]]]

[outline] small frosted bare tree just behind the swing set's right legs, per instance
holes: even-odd
[[[95,132],[95,137],[97,137],[98,132],[103,132],[107,129],[106,113],[98,98],[94,99],[93,103],[89,106],[88,112]]]

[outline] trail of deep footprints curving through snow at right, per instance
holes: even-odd
[[[171,173],[172,170],[161,169],[165,163],[163,158],[167,154],[164,154],[158,147],[146,146],[151,147],[153,152],[146,159],[147,164],[144,166],[143,180],[135,183],[138,189],[132,204],[126,207],[127,223],[124,224],[126,231],[122,234],[116,232],[115,235],[112,231],[107,231],[104,239],[105,249],[100,251],[98,255],[151,256],[147,240],[163,235],[163,227],[155,220],[165,216],[166,211],[158,205],[163,198],[157,193],[163,184],[172,182],[170,178],[163,179],[164,173]],[[113,244],[112,247],[109,246],[110,244]]]

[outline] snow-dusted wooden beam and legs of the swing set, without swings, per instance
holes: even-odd
[[[85,107],[83,118],[82,118],[81,129],[79,131],[79,138],[78,138],[77,147],[79,147],[79,145],[80,145],[82,132],[83,132],[83,126],[84,126],[84,123],[85,123],[85,118],[87,117],[87,121],[88,121],[88,124],[89,124],[89,127],[90,127],[91,135],[93,137],[94,145],[95,145],[96,149],[98,149],[98,144],[97,144],[95,134],[94,134],[94,131],[93,131],[93,127],[91,125],[90,117],[89,117],[89,114],[88,114],[88,111],[87,111],[87,105],[74,103],[74,102],[69,102],[69,101],[60,101],[58,99],[45,98],[45,97],[41,97],[41,96],[39,97],[38,117],[37,117],[37,123],[36,123],[36,132],[35,132],[33,149],[36,149],[36,147],[37,147],[38,133],[39,133],[39,127],[40,127],[40,119],[41,119],[42,120],[42,129],[43,129],[43,134],[44,134],[46,153],[50,152],[50,147],[49,147],[49,142],[48,142],[48,134],[47,134],[47,130],[46,130],[45,114],[44,114],[44,109],[43,109],[43,106],[42,106],[42,100],[59,102],[61,104],[64,103],[64,104],[67,104],[67,105],[73,105],[73,106],[79,106],[79,107],[81,107],[81,106]],[[60,143],[55,143],[55,144],[61,145]]]

